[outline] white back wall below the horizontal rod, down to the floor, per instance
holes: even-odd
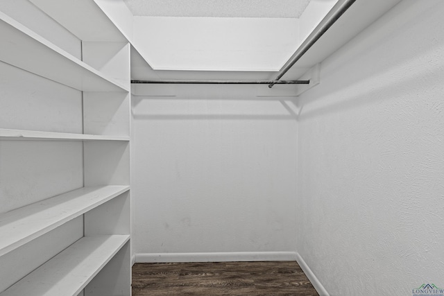
[[[136,260],[294,259],[291,98],[258,98],[248,85],[141,88],[131,155]]]

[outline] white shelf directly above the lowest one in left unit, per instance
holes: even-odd
[[[83,187],[0,214],[0,256],[129,189],[130,186]]]

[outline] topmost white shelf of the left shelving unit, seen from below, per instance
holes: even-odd
[[[44,78],[86,92],[129,92],[19,22],[0,12],[0,60]]]

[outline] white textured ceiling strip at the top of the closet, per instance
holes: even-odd
[[[123,0],[133,15],[149,17],[298,18],[310,0]]]

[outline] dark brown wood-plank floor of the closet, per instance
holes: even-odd
[[[133,296],[318,295],[296,261],[136,263]]]

